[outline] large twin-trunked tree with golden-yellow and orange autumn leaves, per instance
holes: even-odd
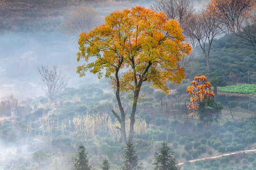
[[[87,71],[111,78],[119,105],[120,116],[112,110],[121,128],[122,143],[126,143],[126,113],[120,100],[121,93],[132,96],[129,140],[134,136],[134,122],[139,92],[144,82],[168,93],[167,82],[180,84],[184,69],[178,61],[191,51],[184,42],[182,29],[163,12],[145,7],[115,11],[105,17],[105,23],[88,33],[80,34],[77,60],[84,64],[77,73]],[[93,58],[93,61],[90,59]],[[91,62],[92,61],[92,62]]]

